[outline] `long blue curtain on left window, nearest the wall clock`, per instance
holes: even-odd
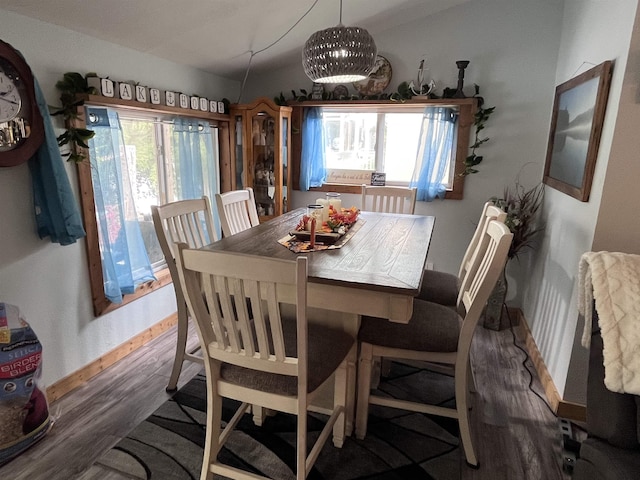
[[[118,114],[87,108],[87,118],[96,132],[89,153],[104,290],[111,302],[122,303],[123,294],[155,276],[138,223]]]

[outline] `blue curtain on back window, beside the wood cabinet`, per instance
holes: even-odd
[[[327,179],[324,160],[324,129],[320,107],[305,109],[302,121],[302,158],[300,160],[300,190],[321,187]]]

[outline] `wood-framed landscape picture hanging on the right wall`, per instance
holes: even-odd
[[[556,87],[543,182],[581,202],[591,192],[611,70],[606,61]]]

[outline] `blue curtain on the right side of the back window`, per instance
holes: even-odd
[[[446,192],[444,175],[452,159],[457,113],[448,107],[426,107],[420,129],[420,142],[411,186],[417,199],[431,202]]]

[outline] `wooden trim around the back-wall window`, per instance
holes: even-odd
[[[471,141],[471,128],[473,127],[474,115],[478,108],[478,99],[476,98],[446,98],[446,99],[411,99],[404,102],[395,102],[391,100],[353,100],[353,101],[305,101],[305,102],[289,102],[288,105],[293,107],[291,114],[291,168],[293,175],[293,189],[300,190],[300,159],[302,157],[302,118],[304,107],[329,107],[332,105],[349,106],[353,110],[359,108],[371,108],[372,106],[380,106],[382,110],[385,107],[402,107],[402,105],[415,106],[418,105],[437,105],[437,106],[456,106],[460,109],[458,117],[458,140],[456,145],[456,163],[453,178],[453,190],[447,191],[445,199],[461,200],[464,195],[464,179],[462,174],[465,170],[464,159],[469,155],[469,146]],[[321,187],[311,187],[309,191],[317,192],[337,192],[337,193],[356,193],[361,192],[360,185],[347,185],[338,183],[326,183]]]

